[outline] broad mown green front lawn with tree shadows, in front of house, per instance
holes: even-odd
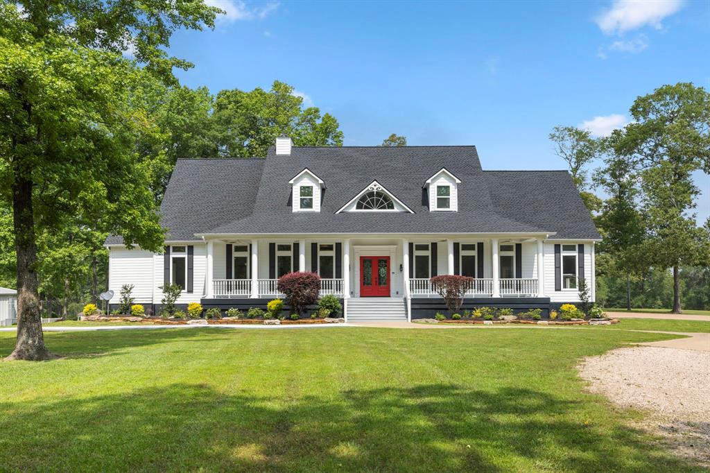
[[[3,471],[689,471],[584,392],[625,330],[50,332],[0,363]],[[0,355],[12,333],[0,333]],[[696,468],[700,470],[699,468]]]

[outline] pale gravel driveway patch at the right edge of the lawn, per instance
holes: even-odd
[[[710,352],[620,348],[585,359],[579,371],[591,392],[648,411],[641,426],[677,455],[710,466]]]

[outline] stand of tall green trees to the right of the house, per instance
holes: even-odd
[[[710,219],[697,223],[692,178],[710,173],[710,94],[664,85],[638,97],[630,116],[608,138],[571,126],[550,134],[603,237],[596,298],[606,307],[710,309]]]

